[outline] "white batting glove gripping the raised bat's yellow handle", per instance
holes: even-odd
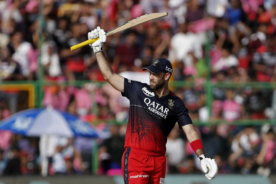
[[[103,29],[101,29],[99,26],[97,29],[94,29],[93,31],[88,33],[88,39],[99,39],[95,41],[94,43],[90,43],[90,47],[93,48],[94,53],[103,51],[102,46],[106,42],[106,32],[104,32]]]

